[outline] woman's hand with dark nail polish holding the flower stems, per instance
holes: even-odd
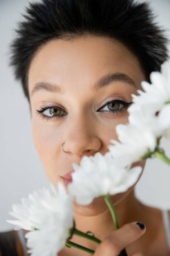
[[[95,250],[94,256],[121,256],[123,255],[121,251],[140,238],[145,231],[146,228],[141,222],[126,224],[106,236]],[[142,253],[138,252],[130,256],[142,256]]]

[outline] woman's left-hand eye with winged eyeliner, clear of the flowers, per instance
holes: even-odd
[[[40,114],[42,118],[51,119],[53,117],[64,117],[67,115],[65,110],[59,108],[58,106],[44,106],[40,110],[37,110],[37,113]]]

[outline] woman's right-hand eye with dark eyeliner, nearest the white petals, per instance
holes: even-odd
[[[116,113],[118,111],[124,110],[124,108],[128,108],[128,106],[132,102],[125,102],[123,100],[111,100],[107,102],[104,106],[98,109],[99,112],[111,112],[111,113]],[[108,110],[107,110],[108,108]],[[103,110],[101,110],[103,109]]]

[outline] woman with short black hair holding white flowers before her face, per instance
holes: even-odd
[[[47,177],[67,187],[73,163],[105,154],[110,139],[118,139],[115,128],[128,122],[131,94],[167,59],[167,39],[149,7],[132,0],[43,0],[30,4],[25,18],[11,65],[30,102],[33,139]],[[134,165],[144,168],[145,161]],[[170,254],[161,210],[140,203],[134,187],[112,201],[120,230],[114,230],[103,199],[74,203],[77,229],[91,230],[102,243],[77,236],[71,241],[95,256],[120,255],[124,247],[133,256]],[[0,237],[2,255],[23,255],[19,232]],[[65,247],[58,255],[88,254]]]

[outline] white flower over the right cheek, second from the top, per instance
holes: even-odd
[[[114,145],[109,146],[113,158],[117,162],[123,160],[124,164],[132,164],[142,160],[146,154],[154,152],[157,139],[163,133],[157,116],[142,110],[131,113],[128,119],[128,124],[116,126],[119,141],[112,139]]]

